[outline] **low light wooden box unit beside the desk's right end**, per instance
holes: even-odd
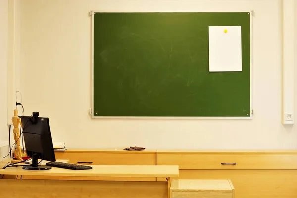
[[[174,179],[170,198],[235,198],[231,180]]]

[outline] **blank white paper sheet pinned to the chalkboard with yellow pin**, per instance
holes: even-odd
[[[209,71],[242,71],[241,26],[209,26]]]

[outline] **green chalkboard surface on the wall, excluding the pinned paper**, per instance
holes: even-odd
[[[93,117],[250,117],[250,13],[92,19]],[[209,72],[209,26],[241,26],[241,72]]]

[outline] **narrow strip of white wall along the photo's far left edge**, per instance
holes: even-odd
[[[0,159],[7,148],[7,54],[8,54],[8,0],[0,1]],[[4,144],[5,143],[5,144]],[[7,154],[7,153],[6,153]],[[5,155],[4,155],[5,156]],[[2,159],[1,159],[2,160]]]

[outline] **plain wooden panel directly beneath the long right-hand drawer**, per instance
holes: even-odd
[[[179,178],[230,179],[235,198],[297,198],[297,170],[180,170]]]

